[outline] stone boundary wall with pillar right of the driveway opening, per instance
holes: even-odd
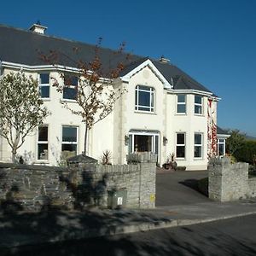
[[[212,158],[208,165],[209,198],[236,201],[256,196],[256,178],[248,178],[248,164],[230,164],[229,158]]]

